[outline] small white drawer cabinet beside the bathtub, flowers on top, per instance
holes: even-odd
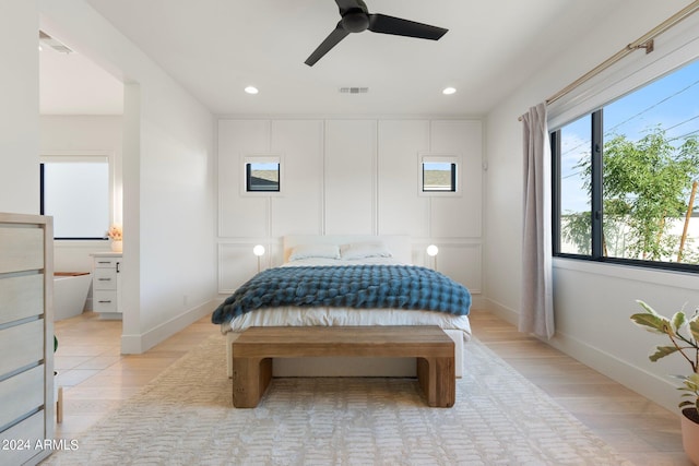
[[[95,252],[92,255],[93,311],[103,319],[121,319],[121,253]]]

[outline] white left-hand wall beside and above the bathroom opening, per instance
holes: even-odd
[[[42,28],[125,83],[122,351],[141,353],[215,304],[215,123],[87,3],[39,5]]]

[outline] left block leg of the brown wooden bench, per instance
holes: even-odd
[[[233,406],[254,408],[271,380],[271,358],[233,358]]]

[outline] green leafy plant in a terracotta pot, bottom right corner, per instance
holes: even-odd
[[[631,315],[631,320],[649,332],[666,335],[671,345],[657,346],[649,359],[653,362],[678,354],[691,368],[689,375],[673,375],[682,381],[680,395],[682,442],[689,459],[699,465],[699,308],[687,318],[683,311],[672,319],[660,315],[643,301],[637,301],[645,312]]]

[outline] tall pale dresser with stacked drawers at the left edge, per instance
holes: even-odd
[[[0,214],[0,464],[34,465],[54,439],[51,217]]]

